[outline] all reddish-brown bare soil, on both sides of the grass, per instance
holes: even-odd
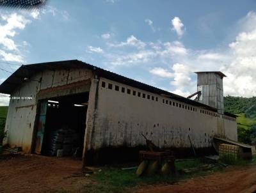
[[[0,157],[0,192],[86,192],[95,183],[81,174],[81,160],[16,155]],[[76,176],[78,174],[78,176]],[[230,167],[225,172],[198,176],[173,185],[145,185],[136,193],[256,192],[256,167]]]

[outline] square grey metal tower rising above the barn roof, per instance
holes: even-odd
[[[223,77],[222,72],[196,72],[197,91],[201,91],[198,102],[218,109],[218,113],[224,113],[223,103]]]

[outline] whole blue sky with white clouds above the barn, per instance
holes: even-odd
[[[225,95],[256,96],[256,2],[49,0],[40,10],[0,8],[0,83],[17,65],[65,59],[182,96],[196,91],[193,72],[221,70]],[[0,95],[0,105],[8,99]]]

